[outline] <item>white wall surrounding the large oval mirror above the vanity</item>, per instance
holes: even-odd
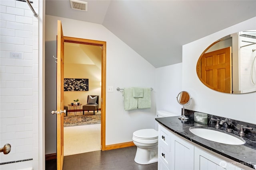
[[[183,45],[182,89],[190,92],[193,100],[188,109],[248,123],[256,123],[256,92],[225,94],[207,88],[196,74],[196,63],[202,52],[214,41],[239,31],[256,29],[256,18],[246,20],[207,37]]]

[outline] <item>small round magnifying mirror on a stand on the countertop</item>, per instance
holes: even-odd
[[[188,117],[185,116],[185,106],[188,106],[190,104],[192,98],[190,97],[190,94],[186,91],[180,92],[176,98],[178,103],[183,106],[182,115],[179,117],[179,119],[186,121]]]

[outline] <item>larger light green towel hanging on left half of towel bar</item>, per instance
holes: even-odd
[[[124,88],[124,110],[138,109],[138,98],[133,97],[132,88]]]

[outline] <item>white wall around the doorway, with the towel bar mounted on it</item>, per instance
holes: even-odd
[[[134,111],[124,111],[122,92],[116,91],[117,87],[154,88],[154,66],[104,26],[95,23],[46,16],[46,41],[56,41],[57,20],[62,21],[64,36],[106,41],[106,87],[114,87],[114,92],[106,93],[106,145],[130,142],[134,131],[154,128],[154,91],[151,109]]]

